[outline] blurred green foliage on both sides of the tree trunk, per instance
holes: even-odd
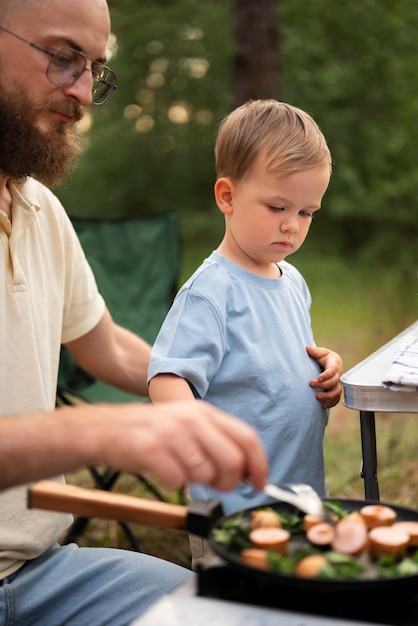
[[[404,270],[413,261],[415,272],[418,5],[275,1],[279,97],[315,117],[334,158],[316,241]],[[58,195],[74,215],[175,208],[186,242],[215,239],[222,221],[212,198],[213,144],[233,102],[238,5],[109,5],[118,89],[93,107],[87,150]]]

